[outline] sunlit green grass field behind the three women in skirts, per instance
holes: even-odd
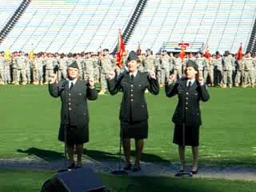
[[[255,165],[256,89],[210,88],[211,99],[202,103],[199,161],[203,164]],[[46,161],[63,157],[57,140],[60,100],[47,86],[1,86],[0,158],[38,156]],[[119,142],[119,103],[122,94],[102,95],[89,103],[90,142],[86,155],[116,160]],[[149,139],[142,161],[178,162],[173,145],[171,116],[177,98],[147,94]],[[188,156],[191,157],[190,150]]]

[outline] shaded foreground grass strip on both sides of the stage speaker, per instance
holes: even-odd
[[[2,170],[0,172],[0,191],[36,192],[42,187],[43,182],[50,179],[53,174],[51,171]],[[253,192],[256,188],[255,182],[217,179],[120,177],[106,174],[100,174],[99,177],[104,185],[113,192]]]

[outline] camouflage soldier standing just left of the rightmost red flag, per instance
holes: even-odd
[[[235,66],[235,59],[229,53],[229,51],[225,51],[223,55],[223,88],[226,88],[227,85],[231,88],[233,85],[233,69]]]

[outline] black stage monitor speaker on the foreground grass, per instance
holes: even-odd
[[[55,174],[44,182],[41,192],[105,191],[102,180],[90,169],[77,169]]]

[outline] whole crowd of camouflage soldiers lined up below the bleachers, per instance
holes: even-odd
[[[167,77],[175,75],[175,79],[181,78],[188,60],[194,60],[199,69],[199,76],[205,79],[210,86],[220,86],[222,88],[234,86],[255,85],[256,77],[256,56],[251,52],[246,52],[243,59],[237,60],[234,54],[225,51],[223,55],[219,52],[212,54],[210,58],[205,58],[204,54],[186,53],[181,59],[179,53],[153,54],[151,50],[142,53],[137,50],[140,59],[139,70],[148,72],[154,70],[157,74],[159,85],[163,86]],[[22,51],[13,52],[10,58],[5,57],[5,53],[0,53],[0,85],[14,84],[43,85],[50,81],[52,73],[58,73],[58,79],[66,78],[67,66],[74,60],[77,61],[81,78],[87,80],[94,78],[100,82],[100,94],[105,94],[107,90],[106,78],[109,73],[122,69],[117,67],[114,54],[110,54],[108,49],[94,54],[92,52],[82,53],[35,53],[33,57]],[[123,55],[123,65],[126,66],[127,52]]]

